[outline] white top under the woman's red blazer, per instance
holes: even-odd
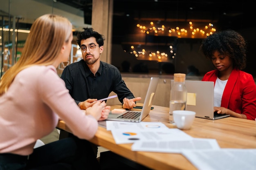
[[[214,105],[213,106],[220,107],[223,91],[226,84],[227,84],[227,80],[221,80],[217,77],[215,86],[214,86]]]

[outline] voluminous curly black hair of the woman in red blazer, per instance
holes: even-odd
[[[202,40],[200,51],[206,58],[211,59],[215,51],[228,55],[236,69],[246,67],[247,42],[240,33],[234,30],[225,30],[213,33]]]

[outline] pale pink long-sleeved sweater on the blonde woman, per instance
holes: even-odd
[[[54,66],[20,71],[0,97],[0,153],[31,154],[36,140],[54,130],[58,117],[82,139],[91,139],[98,128],[98,121],[78,108]]]

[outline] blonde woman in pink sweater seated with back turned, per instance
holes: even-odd
[[[95,102],[85,111],[70,96],[56,67],[68,60],[72,24],[46,14],[35,20],[20,60],[0,80],[0,169],[99,169],[91,148],[65,138],[34,149],[63,119],[72,133],[91,139],[110,106]],[[79,150],[77,149],[79,148]],[[92,155],[92,156],[91,156]]]

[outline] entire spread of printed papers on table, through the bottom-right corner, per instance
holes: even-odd
[[[117,144],[132,150],[181,153],[198,170],[256,170],[256,149],[221,149],[216,139],[193,138],[161,122],[106,121]]]

